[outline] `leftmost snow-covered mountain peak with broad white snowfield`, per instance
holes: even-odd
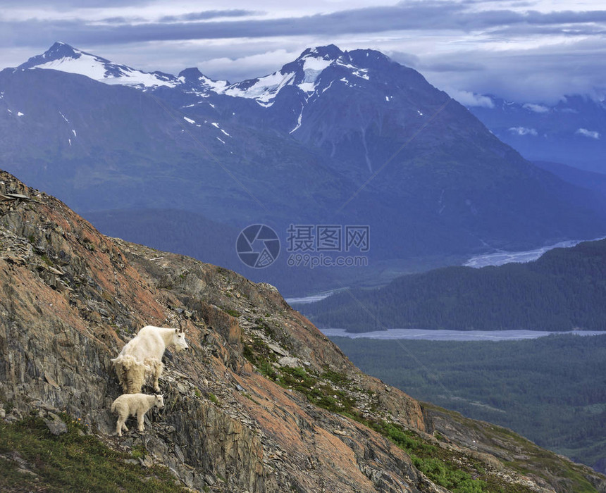
[[[106,84],[128,85],[144,90],[160,86],[175,87],[179,84],[173,75],[161,72],[143,72],[126,65],[118,65],[106,58],[80,51],[62,42],[56,42],[42,55],[32,56],[18,68],[22,70],[33,68],[60,70],[85,75]]]

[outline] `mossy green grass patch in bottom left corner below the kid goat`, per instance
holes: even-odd
[[[114,451],[63,414],[68,432],[54,436],[28,416],[0,423],[0,490],[44,492],[183,492],[168,469],[128,463],[136,454]],[[137,452],[140,454],[140,452]]]

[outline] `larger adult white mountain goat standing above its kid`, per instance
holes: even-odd
[[[125,344],[120,354],[111,360],[123,392],[137,394],[141,392],[144,383],[150,380],[154,382],[154,390],[160,392],[158,379],[164,369],[162,355],[166,348],[172,347],[175,351],[183,351],[189,347],[181,327],[143,327]]]

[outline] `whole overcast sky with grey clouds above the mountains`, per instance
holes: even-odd
[[[606,96],[603,1],[2,0],[0,68],[55,41],[142,70],[237,82],[309,46],[371,48],[459,101]]]

